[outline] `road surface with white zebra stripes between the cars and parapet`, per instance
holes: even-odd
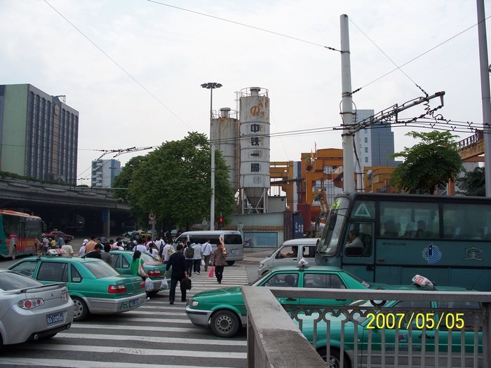
[[[221,285],[204,271],[191,280],[188,298],[202,290],[248,282],[241,264],[225,267]],[[189,322],[179,287],[175,300],[169,305],[164,290],[134,311],[91,315],[53,339],[6,346],[0,367],[245,367],[245,330],[220,339]]]

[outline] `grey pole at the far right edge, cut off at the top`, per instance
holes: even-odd
[[[491,197],[491,101],[490,101],[490,70],[487,64],[487,37],[484,0],[477,0],[480,93],[483,100],[483,133],[484,133],[484,165],[486,196]]]

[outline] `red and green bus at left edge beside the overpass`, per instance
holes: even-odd
[[[24,212],[0,210],[0,256],[15,259],[40,249],[41,217]]]

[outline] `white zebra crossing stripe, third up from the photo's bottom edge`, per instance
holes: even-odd
[[[210,341],[213,341],[213,345],[216,346],[247,346],[247,341],[232,340],[232,339],[194,339],[180,337],[159,337],[159,336],[135,336],[135,335],[113,335],[113,334],[70,334],[66,332],[59,332],[56,337],[62,339],[102,339],[102,340],[115,340],[115,341],[143,341],[148,343],[189,343],[191,345],[210,345]]]

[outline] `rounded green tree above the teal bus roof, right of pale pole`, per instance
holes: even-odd
[[[450,180],[464,170],[457,151],[457,143],[450,132],[408,132],[406,135],[421,139],[393,155],[403,157],[404,162],[392,174],[392,182],[398,189],[409,193],[433,194],[443,189]]]

